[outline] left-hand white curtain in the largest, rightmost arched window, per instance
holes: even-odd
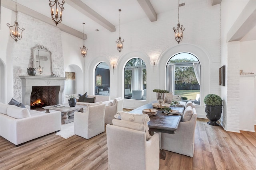
[[[166,67],[166,90],[174,94],[175,66],[174,64]]]

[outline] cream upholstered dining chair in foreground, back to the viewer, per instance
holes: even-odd
[[[113,124],[114,121],[116,119],[113,120]],[[130,123],[133,124],[133,122]],[[143,124],[140,124],[141,126]],[[128,125],[128,127],[134,126]],[[143,130],[139,131],[126,127],[106,125],[106,133],[108,170],[159,169],[158,133],[155,133],[148,141],[146,141],[146,133]]]

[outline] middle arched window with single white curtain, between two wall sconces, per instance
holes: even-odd
[[[146,64],[140,58],[131,59],[124,68],[124,98],[146,100]]]

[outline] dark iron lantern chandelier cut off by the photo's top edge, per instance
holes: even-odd
[[[62,0],[62,4],[59,3],[59,0],[49,0],[49,6],[51,7],[51,15],[52,15],[52,21],[54,21],[56,23],[56,25],[58,25],[58,23],[61,23],[62,21],[62,11],[64,10],[64,3],[65,1]],[[53,6],[56,4],[56,12],[55,12],[55,16],[54,16],[54,8]],[[58,6],[60,8],[60,17],[59,17],[59,9],[58,9]]]

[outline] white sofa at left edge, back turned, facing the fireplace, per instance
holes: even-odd
[[[60,131],[61,113],[44,113],[0,103],[0,136],[16,146],[27,141]]]

